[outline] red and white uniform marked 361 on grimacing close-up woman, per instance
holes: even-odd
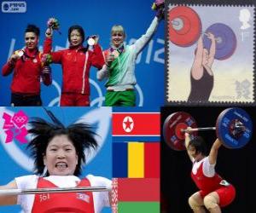
[[[15,178],[18,188],[42,187],[111,187],[111,181],[100,176],[86,176],[80,180],[77,176],[21,176]],[[26,213],[99,213],[103,207],[109,207],[108,192],[87,193],[44,193],[19,195],[17,204]]]

